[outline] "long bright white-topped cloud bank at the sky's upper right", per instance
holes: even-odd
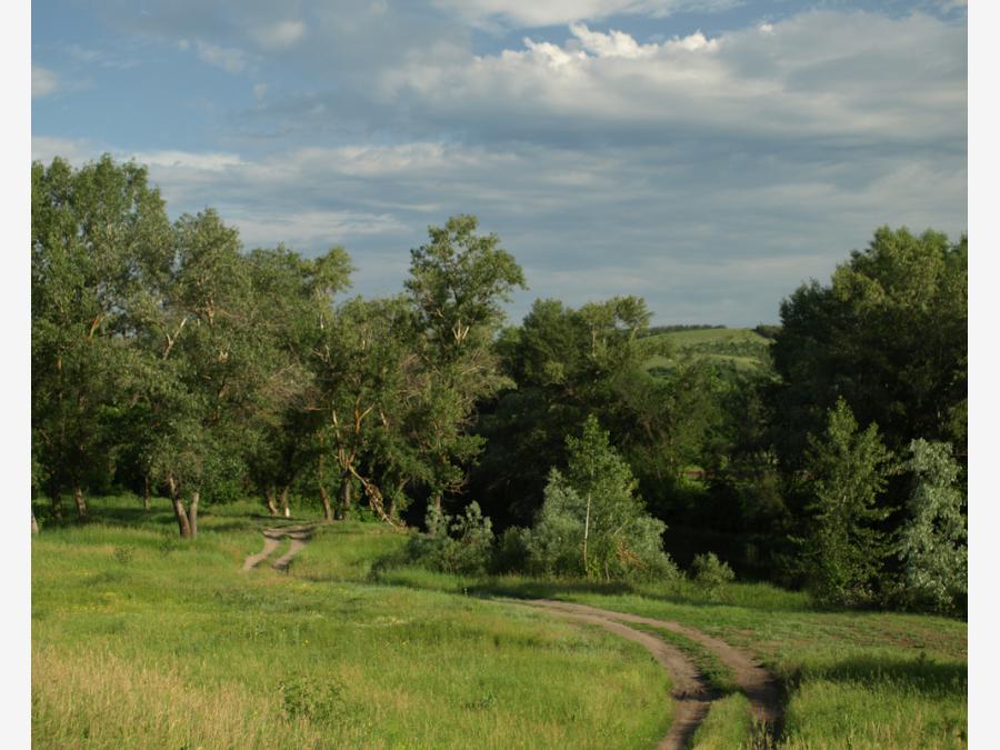
[[[512,138],[686,133],[912,141],[961,138],[966,34],[913,14],[810,12],[707,38],[639,43],[570,27],[563,43],[460,64],[413,63],[382,77],[386,97],[441,127]],[[877,72],[876,72],[877,71]]]

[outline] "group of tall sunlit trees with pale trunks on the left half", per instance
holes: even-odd
[[[242,253],[211,210],[170,222],[136,164],[57,159],[31,181],[31,477],[54,518],[119,486],[169,497],[184,537],[201,502],[278,513],[296,490],[398,524],[461,488],[523,283],[474,218],[431,229],[400,294],[366,300],[344,298],[341,248]]]

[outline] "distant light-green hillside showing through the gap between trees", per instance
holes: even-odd
[[[753,371],[770,367],[770,339],[751,328],[706,328],[654,333],[650,339],[669,342],[671,357],[651,357],[646,369],[669,372],[678,360],[708,360],[737,371]]]

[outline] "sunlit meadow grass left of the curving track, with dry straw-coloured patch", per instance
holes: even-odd
[[[206,511],[181,542],[164,507],[33,539],[34,747],[634,748],[669,726],[669,681],[633,643],[366,582],[400,534],[321,529],[288,574],[240,573],[268,519]]]

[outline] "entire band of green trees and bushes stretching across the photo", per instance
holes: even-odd
[[[671,352],[634,297],[503,328],[523,274],[472,217],[429,230],[396,297],[349,298],[351,270],[242,252],[210,210],[170,222],[134,164],[33,164],[51,516],[162,492],[193,536],[199,503],[257,496],[422,521],[414,557],[452,569],[667,576],[666,539],[832,604],[963,607],[964,237],[878,230],[782,301],[773,367],[748,371],[650,374]]]

